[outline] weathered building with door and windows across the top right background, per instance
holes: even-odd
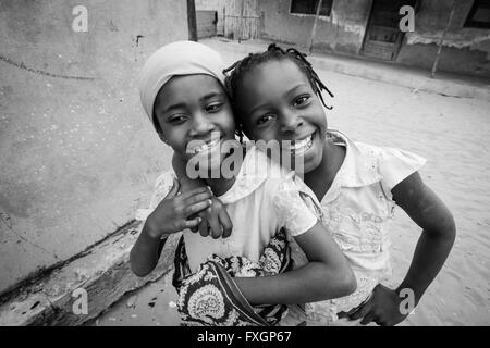
[[[318,1],[197,0],[196,8],[217,11],[218,35],[308,47]],[[400,30],[403,5],[415,10],[413,32]],[[440,71],[490,77],[490,0],[322,0],[313,49],[431,70],[443,33]]]

